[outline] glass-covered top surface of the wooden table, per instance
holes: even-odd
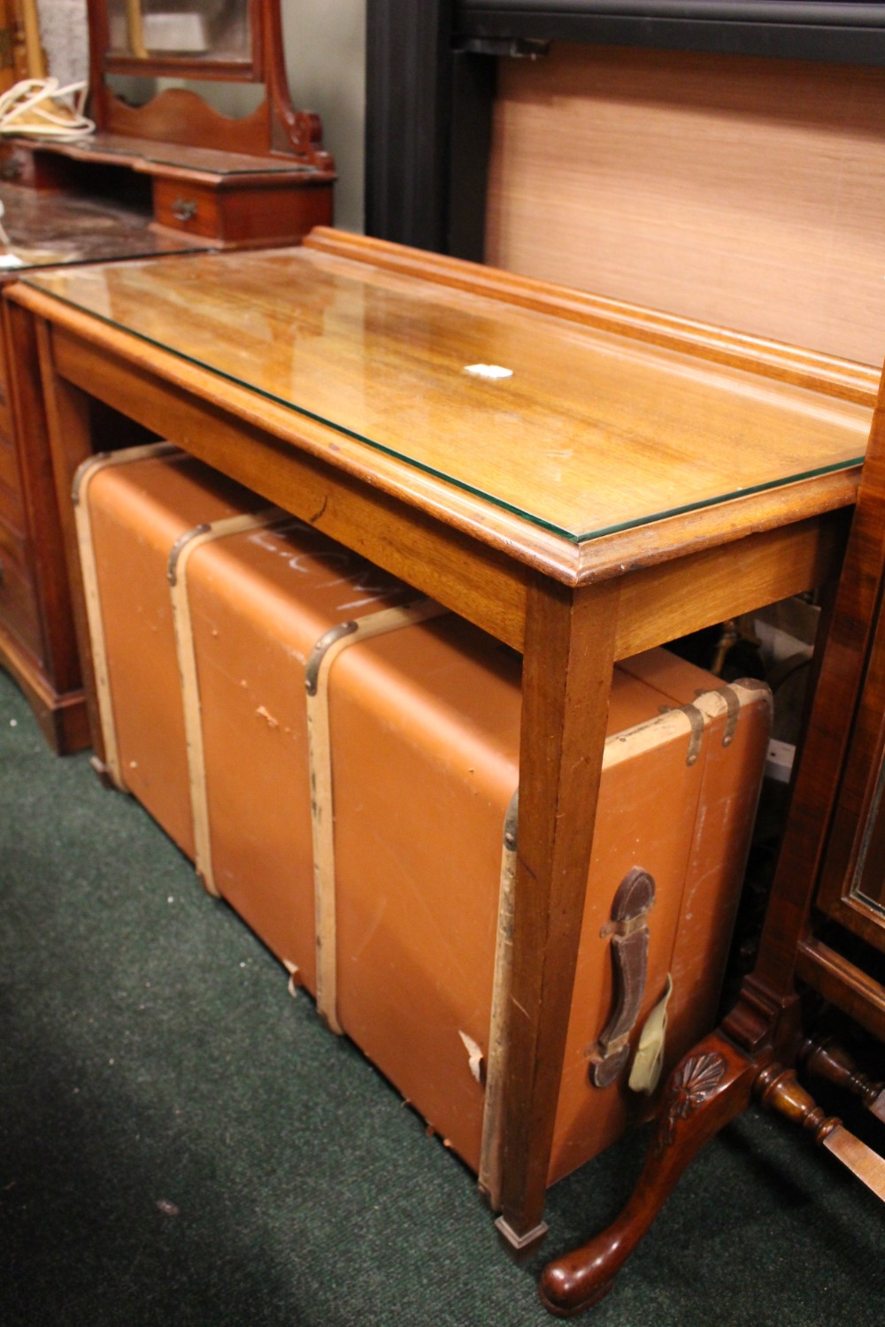
[[[856,464],[872,418],[309,248],[25,281],[577,543]]]

